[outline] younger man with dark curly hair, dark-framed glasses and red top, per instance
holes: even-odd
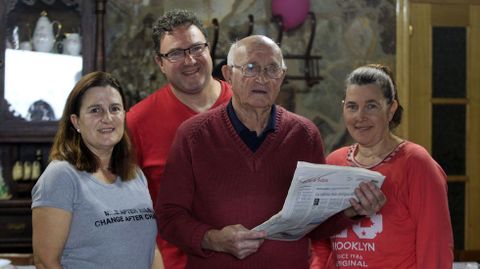
[[[212,77],[213,63],[206,30],[191,12],[172,10],[153,26],[155,62],[168,84],[133,106],[127,126],[137,161],[148,179],[152,200],[157,200],[160,178],[178,126],[185,120],[223,103],[232,96],[230,86]],[[180,269],[186,256],[157,237],[165,268]]]

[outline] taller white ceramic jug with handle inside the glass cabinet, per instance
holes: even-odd
[[[57,25],[56,33],[53,31],[54,25]],[[62,25],[58,21],[50,22],[47,12],[42,11],[33,31],[33,49],[40,52],[51,52],[61,29]]]

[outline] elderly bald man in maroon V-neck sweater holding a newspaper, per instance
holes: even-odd
[[[251,230],[282,208],[297,161],[325,162],[323,142],[311,121],[274,105],[286,67],[273,40],[246,37],[227,62],[231,101],[177,131],[157,199],[159,233],[187,253],[187,268],[308,268],[310,238],[377,212],[385,196],[361,185],[359,202],[297,241]]]

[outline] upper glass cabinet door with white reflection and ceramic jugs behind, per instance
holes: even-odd
[[[52,136],[69,92],[92,70],[92,2],[0,3],[0,138],[12,129]]]

